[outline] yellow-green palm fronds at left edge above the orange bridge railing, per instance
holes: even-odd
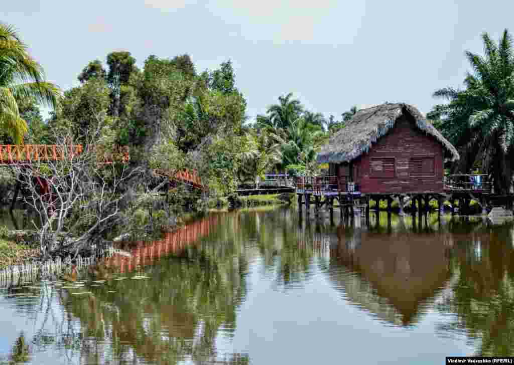
[[[51,107],[60,97],[59,88],[44,81],[44,71],[27,52],[27,46],[11,25],[0,23],[0,127],[22,143],[27,123],[20,117],[18,102],[35,98]]]

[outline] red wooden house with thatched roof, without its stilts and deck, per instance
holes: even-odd
[[[339,190],[363,194],[443,193],[444,161],[458,152],[413,106],[383,104],[358,111],[318,153]],[[345,188],[343,188],[345,189]]]

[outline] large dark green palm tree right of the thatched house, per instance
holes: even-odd
[[[484,56],[466,52],[473,74],[467,74],[465,90],[435,91],[434,97],[449,103],[436,105],[429,118],[440,118],[445,136],[457,147],[473,151],[463,172],[482,157],[482,169],[492,173],[495,190],[506,193],[514,157],[514,49],[507,30],[498,46],[487,33],[482,40]]]

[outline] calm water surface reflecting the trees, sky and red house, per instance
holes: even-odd
[[[79,285],[0,289],[0,356],[57,365],[514,355],[512,226],[334,221],[302,223],[281,208],[213,213],[125,247],[133,257],[79,272]]]

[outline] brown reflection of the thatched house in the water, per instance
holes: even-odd
[[[329,235],[332,283],[352,304],[392,324],[415,323],[451,277],[444,234],[339,227]]]

